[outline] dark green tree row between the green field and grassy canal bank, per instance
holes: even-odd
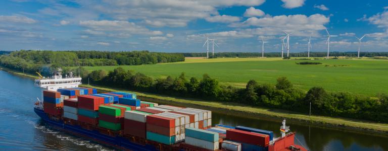
[[[286,78],[277,79],[276,85],[258,84],[255,80],[247,83],[245,89],[219,84],[218,80],[204,74],[202,79],[178,77],[152,79],[142,73],[124,70],[94,70],[83,78],[92,84],[114,88],[124,88],[178,97],[201,98],[222,102],[236,102],[252,106],[264,106],[309,112],[311,103],[313,115],[340,116],[388,122],[388,95],[375,97],[356,95],[349,92],[327,92],[321,87],[313,87],[307,93],[293,87]]]

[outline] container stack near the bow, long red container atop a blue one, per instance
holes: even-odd
[[[267,150],[269,135],[238,129],[226,130],[226,139],[241,143],[243,150]]]

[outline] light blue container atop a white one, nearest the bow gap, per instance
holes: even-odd
[[[216,142],[218,141],[218,133],[198,128],[185,128],[184,135],[187,137],[193,137],[205,141]]]

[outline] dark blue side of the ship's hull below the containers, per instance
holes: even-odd
[[[49,118],[43,110],[39,110],[34,108],[34,112],[47,124],[54,126],[55,128],[61,129],[62,131],[66,131],[72,133],[74,135],[79,135],[82,137],[89,138],[93,141],[103,143],[109,146],[113,146],[120,149],[127,150],[158,150],[152,145],[141,145],[134,142],[129,141],[124,137],[112,137],[105,134],[100,133],[96,130],[87,130],[78,125],[69,125],[65,124],[63,121],[55,121]]]

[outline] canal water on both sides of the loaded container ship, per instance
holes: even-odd
[[[33,112],[41,89],[31,79],[0,70],[0,150],[114,150],[87,139],[46,126]],[[247,118],[213,113],[212,123],[244,125],[271,130],[280,136],[281,120]],[[290,123],[296,143],[309,150],[388,150],[388,137]]]

